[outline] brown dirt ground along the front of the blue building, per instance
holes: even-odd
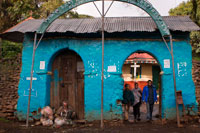
[[[105,128],[100,128],[100,122],[95,121],[82,125],[63,126],[60,128],[44,127],[44,126],[30,126],[25,127],[25,122],[13,122],[0,120],[0,133],[145,133],[145,132],[159,132],[159,133],[200,133],[200,123],[190,122],[184,124],[184,127],[177,128],[174,121],[168,121],[162,125],[159,120],[153,122],[137,122],[129,123],[123,121],[105,121]],[[32,123],[30,124],[32,125]]]

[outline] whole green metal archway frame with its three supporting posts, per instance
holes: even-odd
[[[103,128],[104,17],[105,17],[104,1],[118,1],[118,2],[129,3],[129,4],[135,5],[141,9],[143,9],[146,13],[148,13],[151,16],[153,21],[156,23],[157,28],[159,29],[159,31],[161,33],[162,39],[165,42],[165,45],[167,46],[167,48],[170,52],[170,55],[172,57],[174,91],[175,91],[175,99],[177,99],[172,36],[170,34],[170,31],[169,31],[166,23],[163,21],[161,15],[152,6],[151,3],[149,3],[147,0],[70,0],[70,1],[66,2],[65,4],[63,4],[62,6],[60,6],[59,8],[57,8],[52,14],[50,14],[50,16],[40,25],[40,27],[38,28],[38,30],[35,33],[33,55],[32,55],[32,66],[31,66],[30,89],[29,89],[29,98],[28,98],[28,107],[27,107],[26,127],[28,127],[28,125],[29,125],[28,123],[29,123],[31,89],[32,89],[32,82],[33,82],[33,67],[34,67],[34,60],[35,60],[35,51],[36,51],[37,47],[39,46],[39,43],[44,36],[44,33],[46,32],[47,28],[51,25],[51,23],[53,23],[53,21],[55,21],[57,18],[59,18],[64,13],[66,13],[66,12],[70,11],[71,9],[76,8],[82,4],[86,4],[89,2],[96,2],[96,1],[102,1],[102,14],[101,14],[101,17],[102,17],[101,128]],[[37,42],[37,34],[42,34],[38,42]],[[169,48],[165,37],[169,38],[171,49]],[[178,125],[178,127],[180,127],[180,119],[179,119],[177,100],[176,100],[176,114],[177,114],[177,125]]]

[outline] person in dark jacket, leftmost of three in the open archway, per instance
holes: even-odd
[[[124,120],[128,120],[129,108],[134,103],[134,95],[132,91],[129,89],[129,84],[125,84],[125,89],[123,92],[123,100],[122,103],[124,104]]]

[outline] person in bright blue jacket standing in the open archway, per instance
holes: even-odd
[[[142,101],[146,102],[147,119],[152,120],[153,106],[157,102],[156,88],[153,86],[152,81],[147,81],[147,86],[143,88]]]

